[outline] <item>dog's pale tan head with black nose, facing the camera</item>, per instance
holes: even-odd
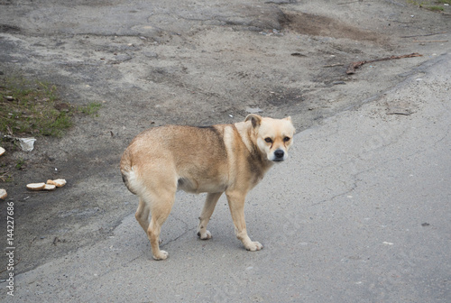
[[[269,161],[281,162],[288,158],[295,131],[290,117],[272,119],[251,114],[244,121],[251,121],[258,149]]]

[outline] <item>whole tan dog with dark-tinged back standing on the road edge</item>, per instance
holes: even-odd
[[[151,241],[153,259],[168,257],[160,250],[160,231],[178,188],[208,193],[199,216],[200,239],[211,238],[207,224],[226,192],[236,237],[248,251],[261,250],[262,244],[246,232],[244,198],[274,162],[287,159],[294,131],[290,117],[248,115],[236,124],[167,125],[136,136],[124,152],[121,172],[127,188],[139,197],[135,217]]]

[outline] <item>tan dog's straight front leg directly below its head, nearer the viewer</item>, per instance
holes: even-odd
[[[238,239],[244,244],[246,250],[255,252],[260,251],[263,245],[258,242],[253,242],[247,235],[246,222],[244,221],[244,200],[245,193],[240,191],[226,192],[228,206],[235,225],[235,234]]]

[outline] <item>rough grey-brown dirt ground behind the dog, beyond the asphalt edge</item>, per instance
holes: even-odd
[[[65,102],[103,105],[98,117],[76,117],[63,138],[38,137],[33,152],[0,158],[25,161],[0,183],[14,201],[16,273],[102,241],[135,211],[118,165],[137,133],[234,123],[250,112],[290,115],[302,131],[448,52],[450,14],[400,0],[1,0],[0,76],[45,79]],[[345,72],[354,61],[414,52],[422,56]],[[25,189],[51,178],[68,185]]]

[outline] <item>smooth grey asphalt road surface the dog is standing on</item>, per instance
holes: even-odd
[[[114,235],[15,277],[9,302],[449,302],[451,55],[295,137],[248,197],[260,252],[235,239],[224,197],[209,229],[179,193],[152,260],[133,215]],[[408,115],[388,115],[391,112]],[[136,197],[124,197],[135,202]]]

